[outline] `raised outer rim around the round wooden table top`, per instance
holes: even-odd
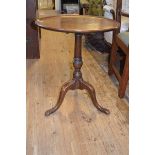
[[[43,25],[42,23],[40,23],[41,20],[44,19],[51,19],[54,17],[90,17],[90,18],[96,18],[96,19],[103,19],[106,21],[110,21],[110,22],[114,22],[116,24],[115,27],[111,28],[111,29],[98,29],[98,30],[66,30],[66,29],[60,29],[60,28],[54,28],[54,27],[48,27],[47,25]],[[51,31],[58,31],[58,32],[66,32],[66,33],[94,33],[94,32],[108,32],[108,31],[112,31],[112,30],[117,30],[120,27],[120,23],[112,20],[112,19],[108,19],[108,18],[104,18],[104,17],[100,17],[100,16],[91,16],[91,15],[77,15],[77,14],[58,14],[58,15],[54,15],[54,16],[48,16],[48,17],[42,17],[42,18],[38,18],[35,21],[35,24],[38,27],[41,27],[43,29],[46,30],[51,30]]]

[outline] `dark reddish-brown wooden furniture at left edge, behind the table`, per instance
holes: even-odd
[[[37,0],[26,0],[26,58],[40,58],[36,19]]]

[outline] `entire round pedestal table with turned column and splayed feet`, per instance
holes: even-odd
[[[90,98],[94,106],[101,112],[109,114],[110,111],[108,109],[103,108],[98,104],[95,89],[93,88],[93,86],[84,81],[82,78],[82,35],[93,32],[107,32],[117,30],[120,27],[120,24],[110,19],[80,15],[58,15],[53,17],[46,17],[36,20],[35,23],[43,29],[75,34],[73,79],[66,82],[61,87],[56,105],[52,109],[47,110],[45,112],[45,116],[49,116],[61,106],[68,90],[75,89],[86,89],[90,95]]]

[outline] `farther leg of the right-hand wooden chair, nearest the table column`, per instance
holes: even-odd
[[[117,47],[116,41],[113,40],[111,53],[110,53],[110,61],[109,61],[109,65],[108,65],[108,74],[109,75],[113,74],[112,65],[115,64],[115,62],[116,62],[117,50],[118,50],[118,47]]]

